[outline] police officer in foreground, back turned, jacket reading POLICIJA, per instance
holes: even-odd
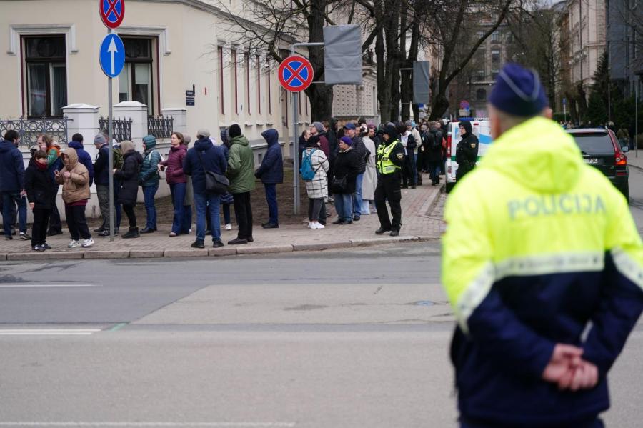
[[[494,137],[444,217],[461,427],[602,427],[607,373],[643,309],[627,202],[585,165],[537,74],[504,66]]]

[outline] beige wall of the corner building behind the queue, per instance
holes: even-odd
[[[287,126],[291,125],[286,124],[285,111],[290,113],[290,97],[282,96],[276,76],[279,64],[260,56],[257,74],[256,56],[252,54],[248,82],[244,46],[234,46],[238,53],[234,86],[232,46],[226,42],[226,34],[219,34],[221,13],[212,4],[213,1],[198,0],[126,1],[125,19],[116,33],[153,40],[154,115],[163,109],[186,109],[186,131],[193,136],[197,129],[207,127],[219,139],[219,128],[235,122],[241,124],[253,144],[261,144],[261,131],[269,127],[277,129],[282,138],[289,136]],[[99,113],[107,116],[107,78],[99,65],[99,47],[107,29],[96,6],[97,1],[86,0],[0,0],[0,89],[6,100],[0,103],[0,119],[26,116],[21,36],[34,34],[65,36],[66,104],[99,106]],[[6,34],[9,39],[5,39]],[[223,46],[223,69],[218,46]],[[114,104],[119,102],[120,78],[114,79]],[[186,106],[185,91],[192,90],[193,85],[195,106]],[[304,100],[308,102],[305,97]],[[307,122],[305,111],[300,120]]]

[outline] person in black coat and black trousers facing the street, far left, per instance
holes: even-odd
[[[44,252],[50,249],[46,243],[47,225],[51,215],[51,201],[54,200],[54,176],[47,168],[46,151],[38,150],[24,173],[24,189],[29,208],[34,211],[34,225],[31,228],[31,249]]]

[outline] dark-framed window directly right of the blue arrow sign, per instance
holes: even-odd
[[[119,74],[119,101],[139,101],[154,114],[154,49],[149,37],[123,38],[125,66]]]

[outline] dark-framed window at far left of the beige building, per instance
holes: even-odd
[[[62,116],[67,105],[65,36],[24,36],[27,116]]]

